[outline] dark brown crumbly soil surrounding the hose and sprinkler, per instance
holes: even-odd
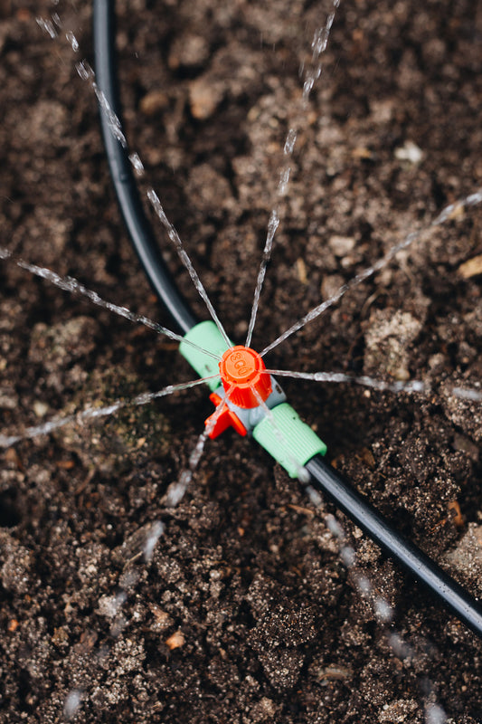
[[[450,392],[480,384],[480,209],[458,205],[429,228],[482,185],[480,5],[343,2],[303,106],[299,70],[330,9],[119,2],[126,133],[143,194],[156,188],[236,341],[279,206],[254,348],[427,230],[266,361],[430,386],[284,384],[329,460],[480,596],[482,405]],[[94,93],[75,68],[92,62],[90,5],[5,0],[0,13],[1,245],[169,325],[120,221]],[[194,378],[175,342],[12,260],[0,286],[3,434]],[[198,387],[2,450],[0,720],[413,724],[445,721],[444,710],[482,722],[476,636],[340,516],[356,551],[347,572],[326,528],[335,509],[316,510],[255,443],[232,432],[210,442],[167,507],[212,409]],[[388,628],[360,595],[362,575],[395,609]],[[399,656],[392,630],[410,646]],[[428,702],[440,709],[425,718]]]

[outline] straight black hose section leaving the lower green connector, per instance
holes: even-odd
[[[305,467],[311,476],[311,484],[317,491],[333,500],[336,507],[343,510],[355,525],[364,530],[384,553],[396,560],[432,594],[437,595],[449,611],[482,638],[482,607],[468,591],[459,586],[457,581],[414,543],[393,529],[321,455],[316,455]]]

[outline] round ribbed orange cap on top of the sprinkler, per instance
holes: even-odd
[[[272,392],[271,379],[265,372],[266,366],[254,349],[238,345],[227,349],[219,365],[222,386],[228,392],[230,401],[244,409],[258,407],[259,400],[253,392],[256,390],[262,400]]]

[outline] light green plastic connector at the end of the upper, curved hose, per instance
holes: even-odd
[[[198,345],[208,352],[212,352],[213,355],[222,357],[226,349],[226,342],[222,337],[221,332],[216,327],[213,321],[199,322],[193,329],[190,329],[187,334],[184,335],[184,339],[189,342]],[[234,347],[234,345],[232,345]],[[200,377],[210,377],[218,375],[219,365],[217,361],[205,355],[199,349],[192,347],[190,344],[186,344],[184,341],[179,345],[179,351],[187,359],[191,367],[194,367],[195,371]],[[216,376],[214,379],[210,379],[206,382],[210,390],[214,392],[221,385],[221,377]]]

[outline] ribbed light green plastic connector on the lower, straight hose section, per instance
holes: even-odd
[[[267,416],[256,425],[252,436],[291,478],[298,478],[299,468],[308,460],[317,454],[325,455],[326,444],[288,403],[273,407],[271,413],[276,427]]]

